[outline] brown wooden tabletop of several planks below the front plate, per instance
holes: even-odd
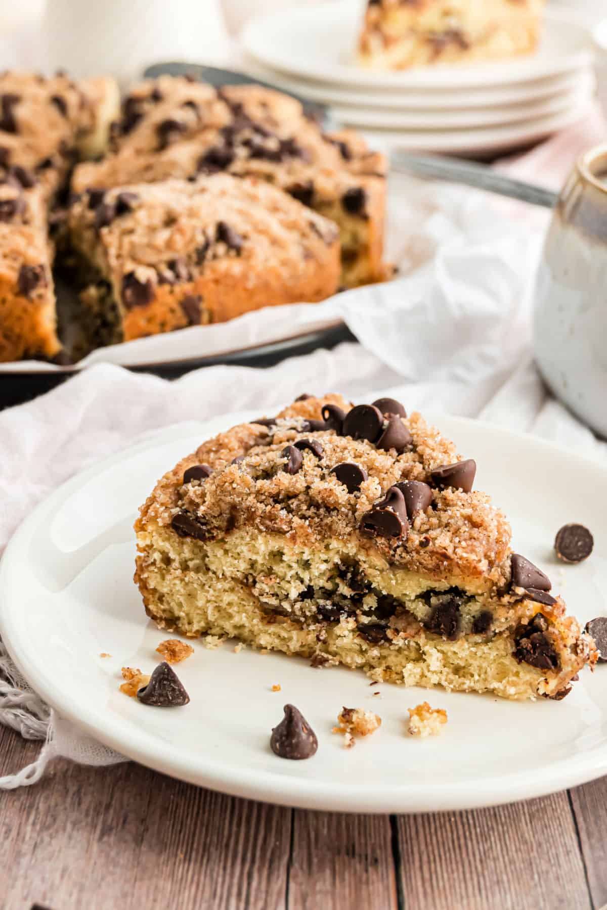
[[[0,776],[39,743],[0,727]],[[473,812],[252,803],[135,763],[0,791],[0,907],[582,910],[607,903],[607,777]]]

